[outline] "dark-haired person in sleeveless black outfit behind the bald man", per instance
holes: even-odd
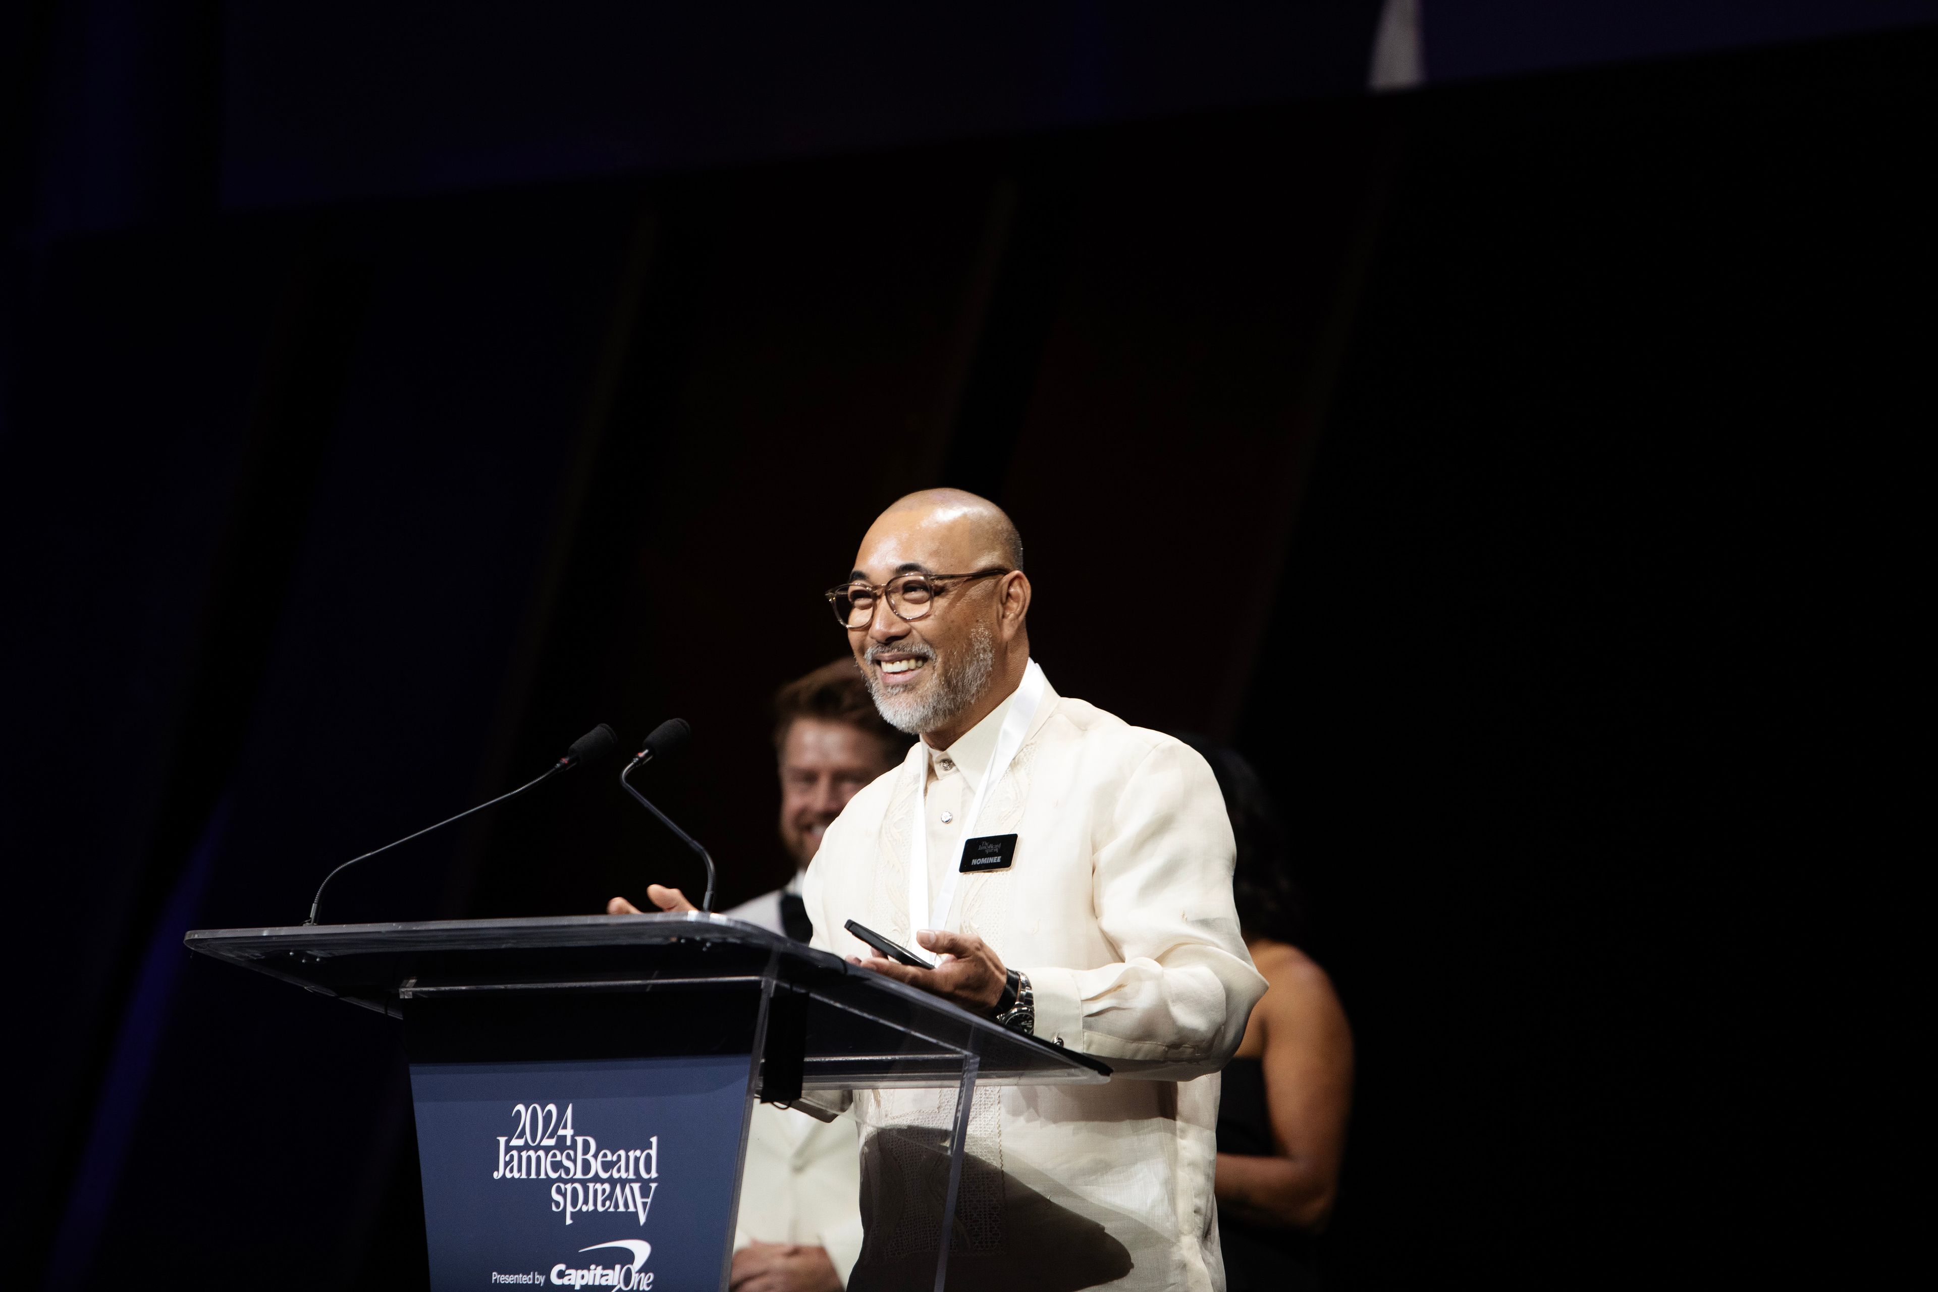
[[[1320,1286],[1316,1238],[1331,1218],[1353,1102],[1353,1032],[1331,978],[1306,955],[1310,920],[1291,876],[1285,823],[1258,773],[1223,746],[1182,736],[1225,792],[1238,843],[1233,897],[1266,976],[1223,1071],[1217,1213],[1229,1292]]]

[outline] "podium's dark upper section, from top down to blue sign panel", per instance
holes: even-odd
[[[860,1087],[1091,1085],[1110,1069],[837,955],[719,914],[196,930],[200,955],[405,1021],[415,1058],[490,1034],[548,1058],[746,1054],[762,994],[762,1098]],[[628,1019],[632,1023],[628,1023]],[[529,1048],[527,1048],[529,1046]]]

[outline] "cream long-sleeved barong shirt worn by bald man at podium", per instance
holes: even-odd
[[[979,784],[1014,703],[948,750],[917,744],[828,827],[802,887],[814,945],[866,955],[841,928],[851,918],[917,945],[928,928],[909,914],[921,790],[932,895],[959,862],[963,804],[981,802],[973,837],[1014,833],[1016,852],[1008,870],[957,876],[944,928],[1027,972],[1037,1034],[1114,1075],[977,1091],[950,1284],[1223,1288],[1217,1069],[1266,992],[1238,936],[1225,800],[1190,746],[1047,682],[1016,757]],[[851,1288],[934,1277],[932,1226],[901,1218],[926,1187],[911,1162],[942,1143],[952,1108],[953,1091],[855,1092],[868,1238]]]

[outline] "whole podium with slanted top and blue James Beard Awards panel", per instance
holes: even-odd
[[[872,1224],[851,1286],[921,1286],[932,1259],[940,1292],[975,1089],[1110,1075],[725,916],[236,928],[184,943],[403,1021],[440,1292],[725,1288],[754,1102],[828,1120],[849,1091],[884,1087],[953,1100],[938,1127],[868,1127],[891,1137],[891,1178],[870,1184],[864,1164],[862,1187],[876,1216],[891,1213],[895,1251]]]

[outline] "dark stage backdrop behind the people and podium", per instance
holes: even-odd
[[[1017,519],[1060,692],[1293,819],[1341,1286],[1870,1278],[1820,945],[1911,788],[1934,50],[1754,43],[1928,14],[1428,4],[1432,85],[1366,97],[1368,4],[680,19],[632,81],[597,6],[370,8],[10,12],[17,1278],[421,1280],[395,1031],[182,930],[672,713],[661,802],[769,887],[767,697],[938,480]],[[1461,81],[1636,54],[1684,56]],[[597,771],[328,918],[649,877],[698,881]]]

